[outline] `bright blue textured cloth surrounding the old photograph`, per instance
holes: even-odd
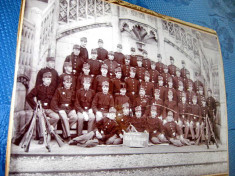
[[[234,0],[126,0],[127,2],[217,31],[223,54],[228,106],[230,175],[235,175],[235,1]],[[0,175],[5,153],[20,0],[0,0]]]

